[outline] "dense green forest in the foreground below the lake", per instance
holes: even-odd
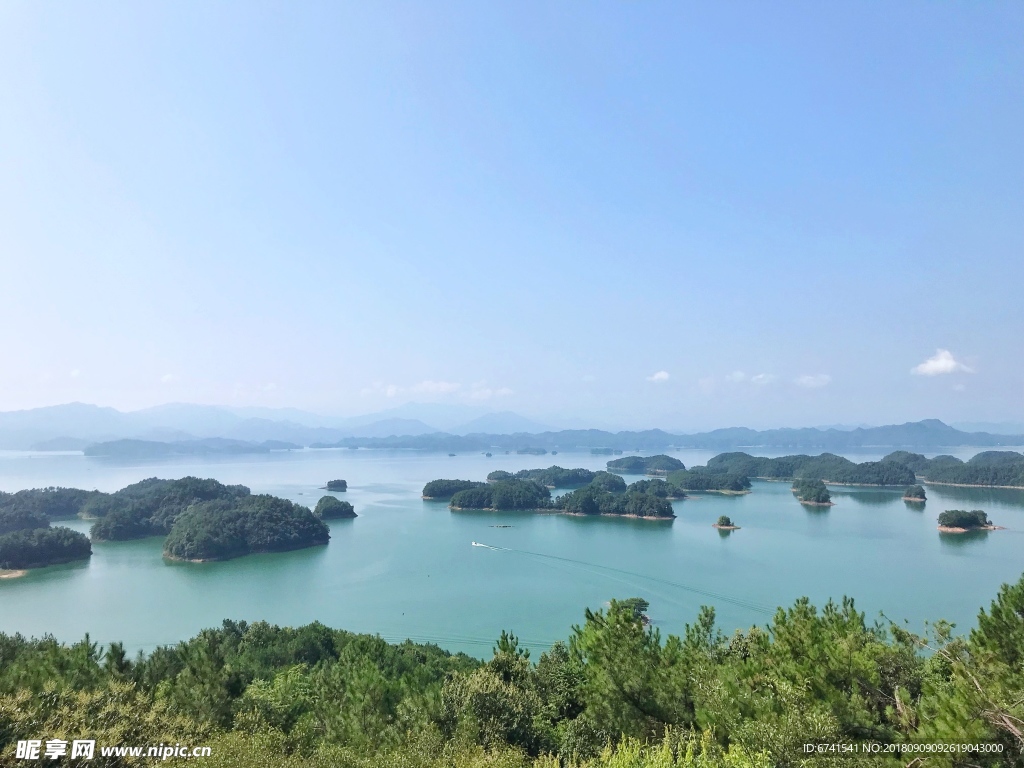
[[[208,744],[212,757],[181,762],[224,768],[1024,763],[1024,578],[966,636],[801,599],[732,636],[705,607],[662,637],[645,605],[588,609],[539,658],[503,632],[485,662],[321,624],[225,621],[134,658],[88,636],[0,634],[0,765],[27,765],[15,744],[31,738]],[[907,751],[806,752],[837,742]],[[920,751],[936,743],[986,746]]]

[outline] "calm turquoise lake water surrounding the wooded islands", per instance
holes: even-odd
[[[689,466],[713,454],[673,455]],[[483,479],[494,469],[553,463],[601,469],[606,460],[302,451],[132,463],[0,454],[3,490],[115,490],[144,477],[194,474],[312,506],[318,486],[343,477],[349,490],[340,496],[359,515],[332,521],[327,547],[219,563],[165,561],[160,539],[96,544],[88,562],[0,580],[0,631],[67,641],[88,632],[103,643],[152,649],[223,618],[319,621],[487,655],[503,629],[541,649],[566,638],[585,607],[635,595],[650,601],[663,633],[681,632],[702,604],[715,606],[727,632],[763,625],[775,606],[802,595],[819,605],[852,595],[868,616],[884,611],[913,630],[937,618],[966,630],[999,585],[1024,571],[1021,490],[928,486],[922,511],[897,489],[834,486],[836,506],[818,510],[798,504],[787,483],[756,481],[746,496],[676,502],[674,521],[454,513],[420,499],[437,477]],[[1007,530],[942,536],[936,516],[950,508],[984,509]],[[722,514],[741,529],[712,528]]]

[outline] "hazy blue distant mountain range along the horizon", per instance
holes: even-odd
[[[454,427],[441,430],[414,415],[432,414]],[[288,418],[271,418],[276,415]],[[465,418],[470,416],[471,418]],[[459,421],[460,417],[463,418]],[[940,450],[959,445],[1024,445],[1024,434],[955,429],[941,421],[884,427],[754,430],[716,429],[675,434],[659,429],[609,432],[551,430],[511,412],[478,413],[458,406],[407,406],[353,419],[317,417],[296,410],[238,412],[213,406],[172,403],[121,412],[80,402],[0,413],[0,449],[83,451],[93,456],[162,456],[197,453],[263,453],[312,447],[420,451],[662,451],[669,449],[776,449],[853,451],[870,447]]]

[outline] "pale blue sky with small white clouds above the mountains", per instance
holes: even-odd
[[[0,3],[0,411],[1024,418],[1024,4]]]

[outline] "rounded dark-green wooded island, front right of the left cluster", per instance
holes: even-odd
[[[190,505],[164,540],[172,560],[209,562],[327,544],[327,523],[308,508],[268,494]]]

